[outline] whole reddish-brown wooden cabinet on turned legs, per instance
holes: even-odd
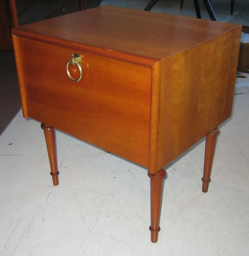
[[[53,127],[146,167],[156,242],[163,168],[203,136],[207,191],[216,127],[231,116],[241,27],[103,6],[12,33],[23,114],[43,123],[54,185]]]

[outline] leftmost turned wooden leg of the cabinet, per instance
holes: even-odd
[[[55,132],[54,127],[46,125],[45,123],[41,124],[41,128],[44,130],[44,135],[46,139],[47,150],[49,154],[49,163],[51,169],[51,175],[53,179],[53,184],[59,185],[59,172],[57,167],[57,157],[56,157],[56,150],[55,150]]]

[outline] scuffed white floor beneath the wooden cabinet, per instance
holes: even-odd
[[[0,256],[249,255],[249,94],[220,128],[208,193],[203,140],[167,167],[152,244],[147,170],[56,132],[53,186],[43,130],[20,112],[0,136]]]

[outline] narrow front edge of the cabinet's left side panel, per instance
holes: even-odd
[[[20,37],[12,34],[12,42],[13,42],[13,48],[15,53],[15,65],[16,65],[17,75],[18,75],[19,90],[21,94],[21,108],[22,108],[23,116],[27,118],[29,117],[28,110],[27,110],[27,89],[24,82],[23,55],[22,55]]]

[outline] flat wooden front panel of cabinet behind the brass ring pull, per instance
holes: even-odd
[[[151,68],[83,52],[75,83],[65,68],[72,49],[14,38],[26,117],[148,167]]]

